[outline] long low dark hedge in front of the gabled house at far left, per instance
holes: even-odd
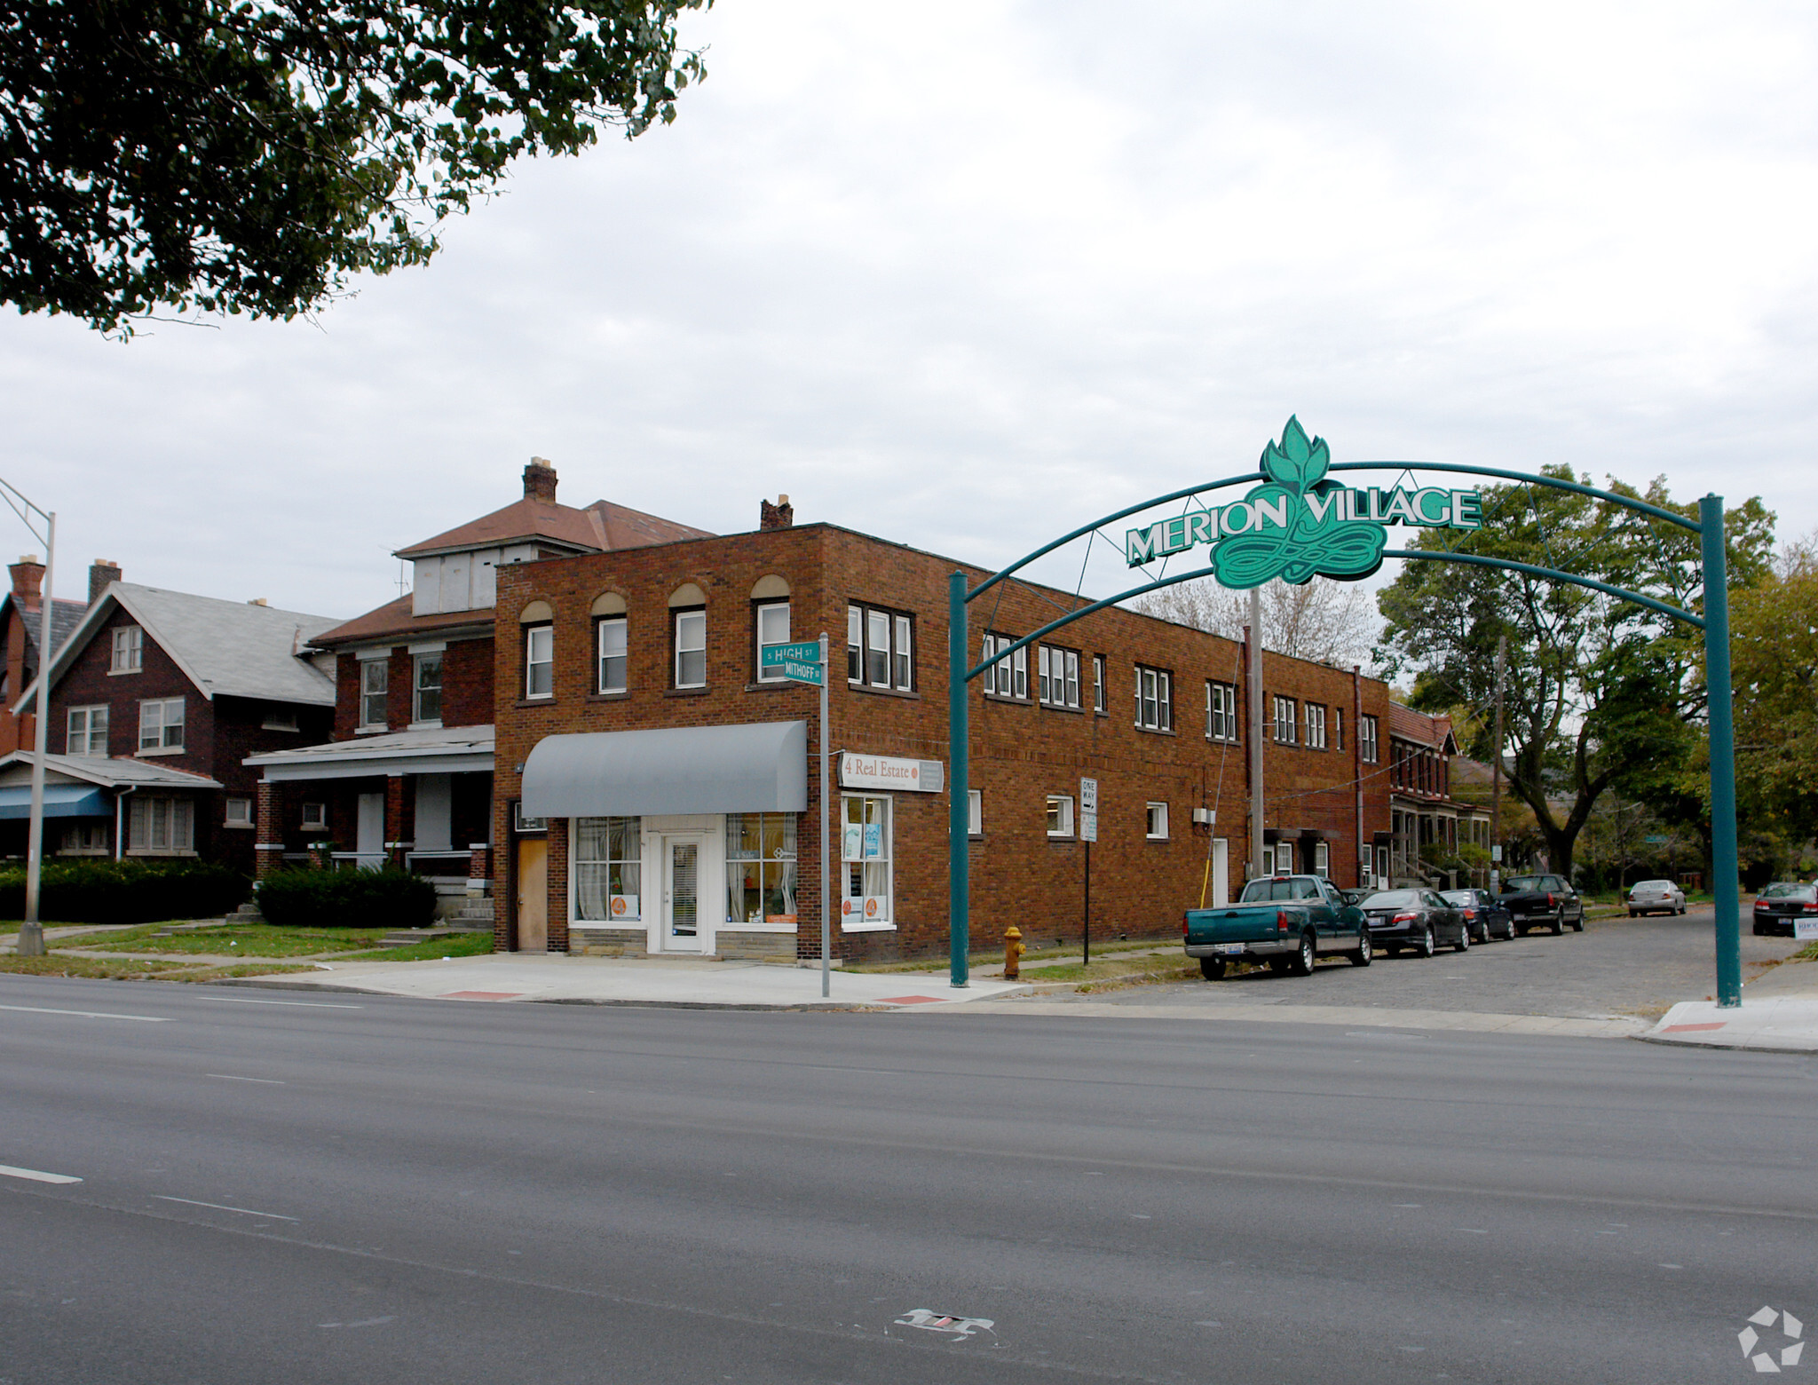
[[[155,923],[227,914],[251,882],[204,862],[47,862],[38,889],[38,918],[47,923]],[[0,918],[24,916],[24,867],[0,871]]]

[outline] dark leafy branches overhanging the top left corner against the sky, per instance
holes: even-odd
[[[131,336],[416,265],[518,154],[674,118],[711,0],[15,0],[0,298]]]

